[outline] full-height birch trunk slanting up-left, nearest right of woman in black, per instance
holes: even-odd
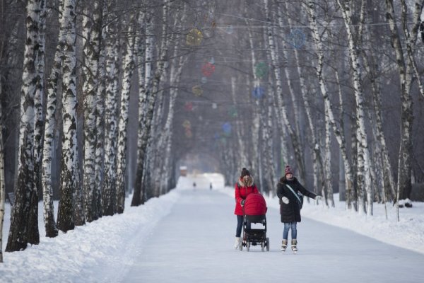
[[[349,161],[348,161],[348,155],[346,151],[346,141],[344,136],[341,134],[340,130],[338,129],[336,125],[336,122],[334,119],[334,113],[333,113],[333,110],[331,109],[329,93],[326,88],[326,76],[323,72],[324,52],[322,47],[322,41],[320,40],[320,35],[318,33],[318,28],[317,28],[317,16],[315,14],[314,1],[307,1],[306,10],[307,10],[308,18],[310,21],[310,27],[312,30],[312,38],[314,40],[315,50],[317,52],[317,57],[318,57],[317,67],[315,67],[315,70],[316,70],[317,78],[319,81],[319,88],[324,98],[324,103],[326,104],[326,110],[328,110],[327,114],[329,115],[329,121],[331,122],[331,127],[333,127],[334,134],[338,141],[338,146],[341,149],[341,155],[343,157],[345,173],[346,173],[346,192],[348,196],[350,196],[351,190],[353,188],[353,175],[351,171],[351,165],[349,164]],[[346,202],[348,203],[348,209],[351,209],[351,200],[348,198]]]

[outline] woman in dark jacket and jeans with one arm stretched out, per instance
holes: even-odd
[[[298,230],[297,223],[302,219],[300,218],[300,203],[298,197],[292,192],[292,190],[298,194],[300,192],[306,197],[310,197],[314,200],[322,200],[322,197],[315,195],[313,192],[306,190],[297,178],[293,177],[293,171],[290,166],[285,166],[284,177],[280,179],[277,185],[277,195],[280,200],[280,214],[281,222],[284,224],[283,230],[283,242],[281,243],[281,250],[285,251],[287,248],[288,231],[291,229],[292,236],[292,250],[293,252],[298,251]],[[290,187],[292,190],[290,190]]]

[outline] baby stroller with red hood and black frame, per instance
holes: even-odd
[[[260,194],[250,194],[246,197],[243,207],[243,231],[242,241],[240,241],[240,250],[243,246],[249,251],[250,245],[261,245],[262,251],[269,251],[269,238],[266,238],[266,202]],[[262,224],[264,229],[252,229],[252,224]]]

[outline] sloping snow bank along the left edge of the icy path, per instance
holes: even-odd
[[[41,218],[40,245],[4,253],[1,282],[28,282],[29,278],[31,282],[99,282],[100,277],[107,278],[107,282],[119,282],[138,257],[135,247],[143,245],[178,198],[178,192],[172,190],[144,205],[130,207],[131,197],[127,197],[124,214],[103,216],[68,233],[59,231],[56,238],[42,236],[45,233]],[[42,214],[41,202],[39,207]],[[4,221],[4,247],[10,228],[9,204],[6,215],[9,217]]]

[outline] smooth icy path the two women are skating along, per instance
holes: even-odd
[[[423,282],[424,255],[306,218],[298,254],[281,253],[273,208],[266,214],[270,251],[234,250],[234,200],[216,190],[177,192],[123,282]]]

